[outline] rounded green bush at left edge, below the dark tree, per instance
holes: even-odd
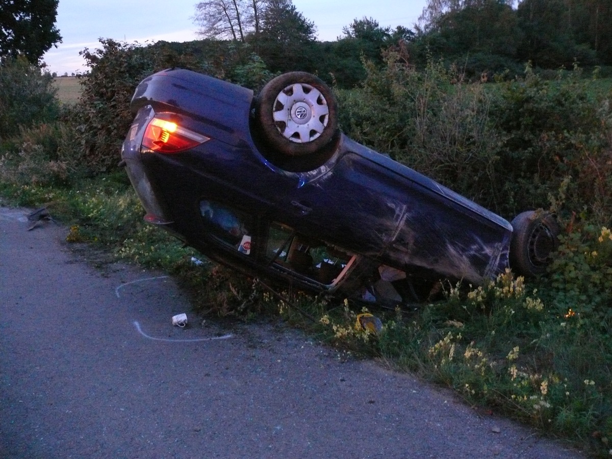
[[[0,140],[58,115],[53,76],[23,56],[0,62]]]

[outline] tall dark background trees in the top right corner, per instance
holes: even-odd
[[[499,72],[474,65],[472,54],[490,55],[512,70],[519,62],[558,69],[610,64],[612,4],[606,0],[430,0],[419,18],[411,47],[416,62],[427,53],[465,62],[469,76]],[[482,59],[480,59],[482,60]],[[487,59],[483,60],[486,64]],[[474,66],[472,66],[474,65]]]

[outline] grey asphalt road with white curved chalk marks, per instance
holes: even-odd
[[[0,208],[1,458],[584,457],[281,323],[202,324],[27,212]]]

